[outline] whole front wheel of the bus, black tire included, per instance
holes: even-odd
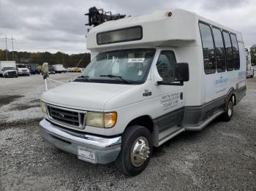
[[[139,154],[132,152],[136,147]],[[116,167],[127,176],[140,174],[148,165],[152,151],[153,142],[149,130],[140,125],[130,126],[122,136],[121,152],[116,159]]]

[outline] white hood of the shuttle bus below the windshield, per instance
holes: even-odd
[[[110,98],[129,90],[134,85],[92,82],[69,82],[42,94],[42,101],[73,109],[104,110]]]

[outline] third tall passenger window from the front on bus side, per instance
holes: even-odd
[[[227,32],[223,32],[223,37],[225,41],[227,71],[231,71],[234,69],[234,63],[230,34],[228,34]]]

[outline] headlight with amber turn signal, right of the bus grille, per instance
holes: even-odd
[[[113,128],[116,125],[116,112],[87,112],[86,125],[97,128]]]

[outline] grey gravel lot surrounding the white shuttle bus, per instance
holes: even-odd
[[[41,139],[41,76],[0,78],[0,190],[256,190],[256,77],[247,81],[230,122],[181,133],[154,150],[142,174],[127,177],[113,163],[86,163]]]

